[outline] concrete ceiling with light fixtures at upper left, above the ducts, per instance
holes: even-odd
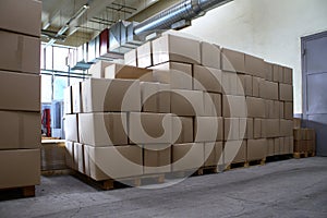
[[[61,37],[64,40],[58,39],[55,44],[80,46],[119,20],[141,22],[178,1],[43,0],[43,31],[48,36],[63,32]],[[83,9],[86,4],[87,9]],[[49,37],[43,36],[43,41],[49,40]]]

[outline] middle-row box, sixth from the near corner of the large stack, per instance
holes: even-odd
[[[247,117],[249,118],[265,118],[266,107],[265,100],[262,98],[246,97]]]

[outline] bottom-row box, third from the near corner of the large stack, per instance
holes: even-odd
[[[171,171],[197,169],[204,165],[204,143],[172,145]]]

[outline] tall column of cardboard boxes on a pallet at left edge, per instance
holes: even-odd
[[[41,2],[0,3],[0,190],[40,183]]]

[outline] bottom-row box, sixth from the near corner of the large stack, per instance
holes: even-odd
[[[267,140],[249,140],[247,141],[246,160],[262,160],[267,156]]]

